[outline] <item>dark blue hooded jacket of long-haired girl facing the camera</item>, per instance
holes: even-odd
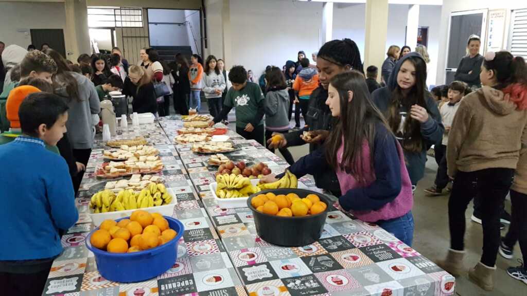
[[[392,103],[392,91],[397,87],[397,73],[401,69],[401,65],[404,61],[411,56],[419,57],[418,53],[409,53],[402,57],[393,69],[392,74],[389,76],[386,82],[386,87],[378,88],[372,93],[372,100],[385,116],[388,113],[388,108]],[[430,92],[425,91],[426,108],[428,109],[428,121],[421,124],[421,135],[423,137],[423,149],[419,152],[408,152],[404,150],[404,157],[406,159],[406,168],[410,175],[412,184],[417,184],[417,181],[421,180],[425,173],[426,163],[426,151],[430,146],[434,144],[440,144],[443,140],[443,132],[445,127],[441,123],[441,114],[437,108],[437,104],[434,102],[434,98]],[[401,106],[401,112],[409,113],[409,110],[405,106]],[[409,116],[409,115],[408,115]],[[402,144],[401,144],[402,145]],[[403,146],[404,149],[404,146]]]

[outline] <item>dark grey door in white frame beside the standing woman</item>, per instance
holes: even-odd
[[[446,57],[446,80],[449,84],[454,81],[454,74],[461,58],[466,55],[466,41],[469,36],[476,34],[482,38],[481,51],[485,44],[482,27],[485,25],[486,12],[452,13],[450,16],[450,37],[448,38],[448,53]]]

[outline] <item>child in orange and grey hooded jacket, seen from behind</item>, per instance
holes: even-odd
[[[293,89],[298,93],[298,97],[295,100],[295,103],[297,104],[295,107],[296,129],[300,128],[299,111],[301,110],[302,116],[304,116],[305,119],[309,105],[309,97],[318,87],[318,73],[315,68],[309,67],[309,59],[302,58],[302,60],[300,60],[300,65],[302,65],[302,71],[298,73],[295,83],[293,83]]]

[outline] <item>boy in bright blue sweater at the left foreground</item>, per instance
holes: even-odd
[[[22,135],[0,146],[0,285],[3,295],[40,295],[62,252],[59,230],[79,219],[68,166],[45,145],[66,132],[66,103],[28,95],[18,110]]]

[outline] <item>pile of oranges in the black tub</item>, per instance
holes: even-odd
[[[301,199],[295,193],[275,195],[272,192],[255,196],[251,205],[258,212],[285,217],[316,215],[327,208],[326,203],[320,201],[316,194],[309,194]]]

